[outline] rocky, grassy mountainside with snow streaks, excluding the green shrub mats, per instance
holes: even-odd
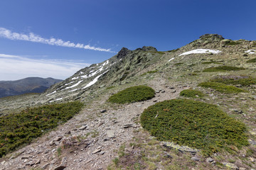
[[[256,77],[256,41],[227,40],[202,35],[176,50],[154,47],[122,48],[117,55],[76,72],[40,95],[0,98],[1,112],[80,100],[85,107],[74,118],[30,145],[0,159],[0,169],[256,169],[255,85],[245,93],[222,94],[198,86],[219,76]],[[203,72],[217,66],[240,71]],[[107,99],[130,86],[147,85],[156,91],[148,101],[114,104]],[[145,108],[156,102],[184,98],[184,89],[206,94],[195,100],[212,103],[247,126],[250,145],[203,156],[185,146],[157,141],[139,123]],[[26,98],[25,100],[23,98]]]

